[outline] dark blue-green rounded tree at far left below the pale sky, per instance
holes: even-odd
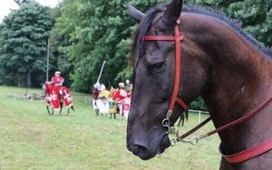
[[[32,82],[34,87],[40,86],[45,80],[47,40],[52,27],[50,8],[34,1],[25,2],[5,17],[0,25],[3,84]]]

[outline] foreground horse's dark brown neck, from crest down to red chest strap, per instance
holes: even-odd
[[[206,47],[205,52],[212,66],[203,99],[215,127],[247,115],[272,96],[271,61],[252,43],[238,37],[238,33],[224,30],[223,27],[214,32],[220,33],[219,37],[211,38],[214,42],[199,45]],[[269,135],[272,134],[270,109],[272,103],[254,118],[219,133],[223,147],[229,154],[272,137]]]

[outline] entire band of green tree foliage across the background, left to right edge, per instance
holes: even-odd
[[[13,11],[5,18],[4,24],[0,24],[0,42],[4,44],[0,48],[0,83],[15,85],[17,81],[24,80],[25,84],[27,73],[31,71],[34,72],[33,78],[37,83],[44,80],[46,42],[53,19],[48,14],[49,9],[43,13],[36,12],[38,9],[45,9],[44,7],[31,9],[34,7],[31,4],[35,4],[33,1],[15,2],[20,5],[20,9]],[[116,87],[119,81],[131,80],[129,55],[131,36],[136,24],[131,21],[126,2],[63,0],[59,6],[53,8],[51,13],[56,23],[50,33],[50,75],[55,70],[62,71],[66,86],[71,85],[73,90],[89,91],[98,78],[102,61],[106,61],[102,81],[107,88]],[[129,1],[142,12],[163,2],[166,1]],[[272,1],[186,0],[185,5],[189,4],[209,6],[223,11],[229,17],[240,21],[242,27],[257,41],[267,47],[272,46]],[[34,21],[39,19],[36,26],[44,24],[44,33],[32,34],[39,29],[33,29],[34,25],[27,21],[27,16],[24,17],[27,11],[24,6],[31,9],[27,13],[33,14],[31,18],[34,18]],[[47,17],[38,18],[38,15]],[[32,35],[20,38],[15,36],[15,33],[21,32]],[[36,38],[33,39],[34,37]]]

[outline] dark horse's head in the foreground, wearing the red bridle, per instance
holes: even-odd
[[[135,83],[128,121],[127,147],[142,159],[156,156],[170,146],[167,129],[161,126],[161,121],[170,107],[176,65],[174,42],[147,42],[143,39],[146,35],[173,36],[182,4],[182,1],[172,1],[170,5],[159,5],[147,14],[128,5],[131,18],[140,25],[135,33],[131,52]],[[183,42],[181,45],[184,46]],[[181,80],[177,94],[187,104],[199,96],[206,76],[202,68],[196,69],[203,63],[203,58],[191,55],[192,53],[182,52]],[[177,121],[183,110],[178,105],[174,106],[171,124]]]

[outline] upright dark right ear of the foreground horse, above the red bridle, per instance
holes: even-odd
[[[180,18],[182,5],[183,0],[172,0],[161,18],[162,24],[167,27],[176,24],[176,21]]]

